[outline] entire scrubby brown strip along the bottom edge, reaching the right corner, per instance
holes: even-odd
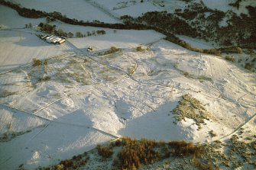
[[[84,154],[65,159],[57,165],[39,169],[112,169],[138,170],[145,167],[159,169],[218,170],[239,167],[256,168],[256,142],[245,143],[232,136],[222,143],[194,145],[186,141],[134,140],[128,137],[97,146]],[[109,153],[104,157],[99,152]],[[157,169],[157,168],[150,168]]]

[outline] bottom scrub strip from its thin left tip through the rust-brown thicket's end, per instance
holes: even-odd
[[[90,169],[86,165],[94,159],[96,162],[92,165],[96,166],[93,169],[137,170],[143,165],[151,165],[169,158],[190,159],[192,162],[192,159],[198,158],[202,151],[202,146],[195,146],[185,141],[167,143],[125,137],[109,143],[109,146],[97,146],[88,153],[73,156],[73,159],[65,159],[57,165],[40,169]]]

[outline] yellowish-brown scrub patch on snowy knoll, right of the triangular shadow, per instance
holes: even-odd
[[[173,114],[177,121],[185,120],[185,117],[193,119],[199,129],[202,128],[201,124],[204,123],[204,120],[209,120],[209,112],[200,101],[191,95],[182,96],[177,107],[173,109]]]

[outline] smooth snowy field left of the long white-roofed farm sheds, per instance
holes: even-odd
[[[0,71],[31,63],[33,58],[46,59],[70,52],[70,47],[41,40],[28,30],[0,30]]]

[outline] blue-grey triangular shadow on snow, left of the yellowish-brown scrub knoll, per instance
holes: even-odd
[[[127,125],[118,134],[132,138],[147,138],[152,140],[187,140],[188,131],[174,124],[170,111],[177,102],[167,102],[144,116],[128,120]]]

